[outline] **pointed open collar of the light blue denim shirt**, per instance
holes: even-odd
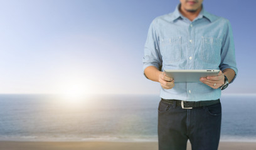
[[[179,12],[179,8],[180,8],[181,4],[179,4],[175,11],[173,12],[173,15],[171,17],[171,21],[175,21],[176,19],[179,19],[179,18],[185,18],[181,12]],[[210,22],[213,21],[213,17],[211,17],[211,14],[209,14],[208,12],[205,11],[205,9],[203,9],[203,5],[202,5],[202,9],[200,11],[200,14],[198,14],[198,16],[196,17],[196,19],[201,19],[202,17],[206,17],[206,19],[208,19]]]

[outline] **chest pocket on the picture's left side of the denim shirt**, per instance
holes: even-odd
[[[163,61],[173,63],[181,59],[181,37],[161,39],[160,43]]]

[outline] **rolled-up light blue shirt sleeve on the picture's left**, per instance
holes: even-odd
[[[159,36],[157,36],[155,21],[151,22],[147,33],[147,40],[144,47],[143,72],[148,66],[161,68],[162,59],[159,52]],[[144,74],[145,75],[145,74]]]

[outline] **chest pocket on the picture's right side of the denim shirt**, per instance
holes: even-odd
[[[219,63],[222,40],[216,37],[205,37],[201,39],[200,58],[206,63]]]

